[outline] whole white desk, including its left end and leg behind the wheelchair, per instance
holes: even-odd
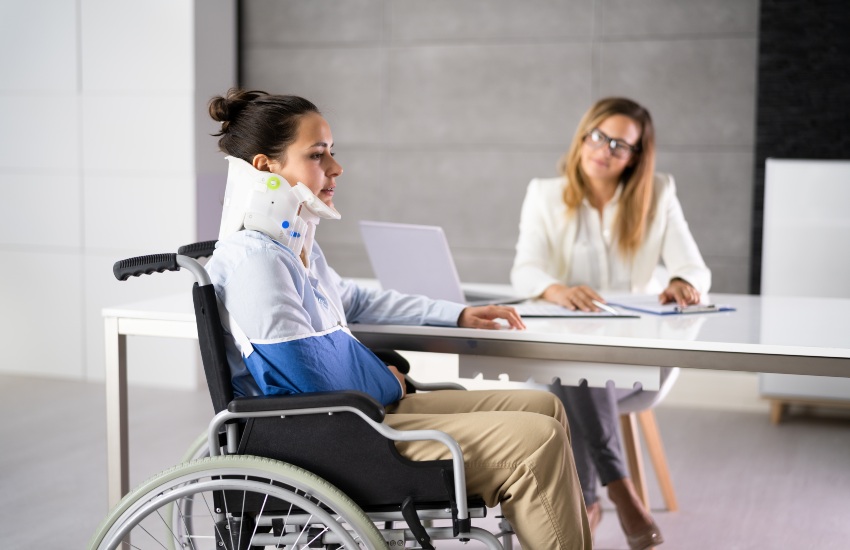
[[[527,319],[525,331],[352,325],[367,346],[522,358],[479,361],[485,378],[551,381],[558,361],[620,363],[850,378],[850,300],[712,294],[737,311],[638,319]],[[130,335],[196,338],[191,296],[103,309],[109,504],[128,492],[127,363]],[[552,363],[546,363],[552,362]],[[487,364],[495,364],[489,371]],[[542,367],[541,367],[542,365]],[[549,367],[547,367],[549,365]],[[558,373],[562,375],[561,373]],[[608,372],[602,375],[607,377]]]

